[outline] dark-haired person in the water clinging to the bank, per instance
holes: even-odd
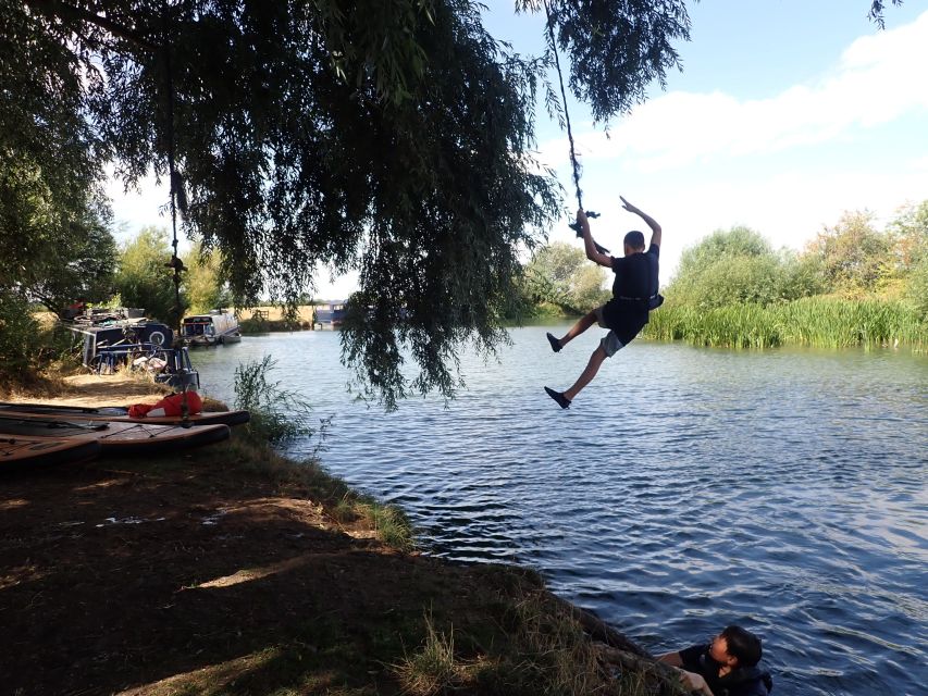
[[[770,674],[760,670],[760,638],[741,626],[727,626],[712,643],[693,645],[657,659],[680,670],[683,685],[705,696],[767,696]]]

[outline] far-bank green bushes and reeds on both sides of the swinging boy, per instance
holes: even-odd
[[[609,298],[609,274],[581,249],[542,247],[517,283],[518,319],[576,315]],[[646,335],[719,346],[928,343],[928,200],[883,229],[845,212],[802,251],[744,226],[685,249]],[[514,315],[512,319],[517,319]]]

